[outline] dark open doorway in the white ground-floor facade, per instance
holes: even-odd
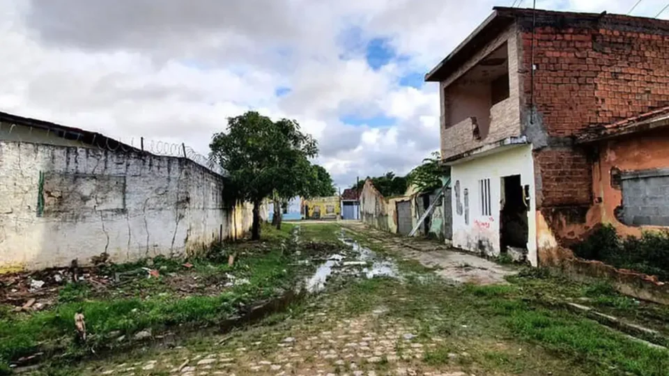
[[[500,248],[527,249],[528,246],[528,206],[521,185],[521,175],[502,178],[502,210],[500,212]]]

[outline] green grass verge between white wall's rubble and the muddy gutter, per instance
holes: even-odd
[[[295,268],[290,262],[275,245],[260,253],[238,256],[233,267],[210,260],[192,260],[195,266],[187,272],[205,281],[224,272],[231,272],[238,279],[248,279],[249,283],[235,285],[217,296],[179,298],[165,292],[160,279],[141,278],[130,288],[137,290],[137,296],[117,298],[108,298],[109,292],[101,297],[92,296],[89,285],[70,283],[59,291],[58,304],[53,308],[30,314],[0,315],[0,364],[6,365],[12,359],[38,350],[66,350],[76,354],[87,348],[106,348],[116,344],[118,336],[131,338],[143,329],[152,329],[156,334],[175,325],[215,324],[228,318],[240,304],[275,295],[279,288],[289,288],[295,277]],[[154,261],[153,267],[164,266],[160,269],[162,273],[179,268],[184,272],[181,263],[183,261],[159,259]],[[124,271],[140,265],[146,265],[146,261],[112,268]],[[146,289],[152,291],[151,296],[139,297],[146,296]],[[75,343],[74,315],[79,310],[84,313],[89,333],[85,347]]]

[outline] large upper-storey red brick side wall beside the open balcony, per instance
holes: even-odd
[[[522,91],[529,105],[532,29],[529,19],[520,22]],[[669,104],[669,22],[618,16],[538,22],[534,102],[550,136],[571,136]]]

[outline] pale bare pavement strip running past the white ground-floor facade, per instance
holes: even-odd
[[[505,276],[517,272],[513,267],[459,252],[438,242],[390,235],[360,222],[348,222],[342,225],[354,233],[367,237],[370,242],[396,251],[405,260],[417,260],[425,267],[436,268],[436,274],[456,283],[503,284],[507,283]]]

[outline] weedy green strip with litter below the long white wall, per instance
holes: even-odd
[[[253,301],[277,295],[291,287],[298,270],[291,263],[291,250],[286,249],[289,234],[269,226],[266,231],[265,243],[226,244],[226,251],[213,249],[207,258],[187,260],[187,265],[192,265],[189,267],[182,265],[184,260],[167,258],[111,265],[104,272],[114,274],[150,264],[161,276],[148,279],[144,272],[131,283],[100,291],[84,282],[68,283],[59,290],[52,308],[0,315],[0,374],[9,361],[36,351],[72,357],[122,346],[139,331],[149,329],[155,335],[175,326],[216,324]],[[228,265],[226,257],[231,253],[238,255],[233,266]],[[174,277],[168,278],[169,274]],[[171,286],[181,279],[186,283]],[[225,280],[230,282],[229,288],[208,290],[208,285]],[[180,286],[190,287],[198,281],[201,290],[189,291],[185,296],[180,292]],[[77,311],[84,314],[86,322],[85,344],[75,340]]]

